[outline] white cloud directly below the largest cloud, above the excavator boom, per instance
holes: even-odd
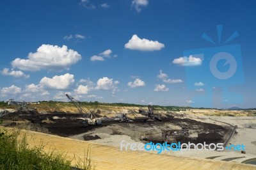
[[[40,85],[51,89],[67,89],[74,82],[74,75],[66,73],[65,75],[55,75],[54,77],[44,77]]]

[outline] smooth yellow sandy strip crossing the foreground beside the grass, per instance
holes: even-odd
[[[12,128],[8,128],[12,130]],[[42,134],[21,130],[26,134],[29,146],[45,144],[44,150],[52,148],[67,153],[66,158],[83,158],[84,151],[90,148],[90,154],[95,169],[256,169],[256,166],[224,162],[219,160],[184,158],[166,154],[152,154],[145,151],[120,151],[115,146],[106,146],[55,135]]]

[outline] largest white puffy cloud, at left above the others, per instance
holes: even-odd
[[[68,49],[66,45],[41,45],[35,53],[30,52],[28,59],[16,58],[12,61],[13,68],[20,70],[39,71],[41,69],[60,72],[68,70],[82,59],[81,55],[75,50]]]

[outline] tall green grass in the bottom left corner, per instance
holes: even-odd
[[[20,135],[19,131],[1,129],[0,148],[0,169],[71,169],[71,162],[65,159],[64,153],[56,150],[45,152],[43,144],[29,147],[26,135]],[[84,156],[77,160],[76,168],[93,169],[90,153],[87,151]]]

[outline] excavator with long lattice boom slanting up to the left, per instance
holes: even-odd
[[[66,97],[76,106],[77,110],[80,113],[86,114],[86,111],[79,100],[76,100],[76,98],[70,97],[70,95],[68,95],[68,94],[66,94]],[[85,118],[85,120],[87,120],[89,125],[100,125],[101,124],[101,120],[99,120],[95,116],[93,111],[90,111],[90,114],[88,114],[88,116]]]

